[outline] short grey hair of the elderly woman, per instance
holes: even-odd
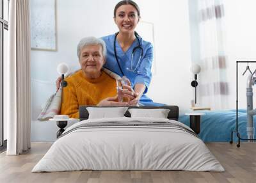
[[[77,56],[79,58],[81,49],[87,45],[101,45],[102,46],[102,54],[104,57],[107,55],[107,49],[106,49],[106,44],[104,40],[100,38],[95,38],[93,36],[91,37],[86,37],[80,40],[79,44],[77,45]]]

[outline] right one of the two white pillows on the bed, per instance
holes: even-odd
[[[167,118],[170,109],[128,109],[131,117]]]

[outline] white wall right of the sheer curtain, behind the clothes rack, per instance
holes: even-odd
[[[236,61],[256,61],[256,1],[224,1],[227,28],[228,81],[230,82],[230,107],[236,108]],[[250,64],[256,69],[256,63]],[[242,76],[246,64],[239,64],[239,108],[246,108],[246,79]],[[255,87],[254,94],[255,94]],[[256,101],[254,97],[253,106]]]

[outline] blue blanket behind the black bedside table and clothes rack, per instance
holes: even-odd
[[[201,113],[202,111],[200,111]],[[200,138],[205,142],[230,141],[231,131],[236,129],[236,109],[228,111],[203,111],[201,116]],[[179,121],[189,126],[189,116],[179,116]],[[241,138],[246,135],[247,113],[246,109],[238,110],[238,125]],[[253,117],[254,127],[256,127],[255,116]],[[234,133],[234,141],[237,141]]]

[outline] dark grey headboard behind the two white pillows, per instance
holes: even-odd
[[[89,113],[86,109],[86,107],[99,107],[99,106],[80,106],[79,107],[79,119],[80,121],[83,120],[87,120],[89,117]],[[104,107],[117,107],[117,106],[104,106]],[[168,113],[167,118],[169,120],[179,120],[179,107],[178,106],[131,106],[128,107],[129,109],[132,108],[140,108],[140,109],[170,109],[170,112]],[[131,117],[131,114],[129,113],[129,111],[126,111],[126,113],[124,114],[126,117]]]

